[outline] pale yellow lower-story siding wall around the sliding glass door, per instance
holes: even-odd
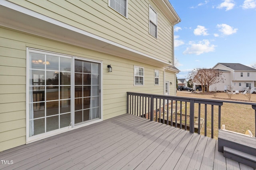
[[[128,91],[151,94],[164,92],[163,68],[0,27],[1,151],[26,143],[27,47],[102,61],[103,119],[126,113],[126,92]],[[112,72],[107,71],[108,64],[111,64]],[[144,86],[134,86],[134,65],[144,67]],[[155,69],[160,73],[159,86],[154,85]],[[172,82],[174,77],[174,73],[167,74],[167,79]]]

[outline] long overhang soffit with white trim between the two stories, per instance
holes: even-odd
[[[0,1],[0,26],[154,66],[172,65],[6,0]]]

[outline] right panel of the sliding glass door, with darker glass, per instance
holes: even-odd
[[[74,123],[100,118],[100,64],[74,60]]]

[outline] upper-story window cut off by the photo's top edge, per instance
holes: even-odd
[[[127,17],[127,1],[128,0],[108,0],[108,6]]]

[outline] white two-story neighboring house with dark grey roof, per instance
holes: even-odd
[[[219,69],[222,72],[224,82],[213,84],[210,86],[210,91],[232,89],[232,91],[241,92],[248,87],[249,89],[254,87],[254,81],[256,81],[256,69],[254,68],[239,63],[218,63],[212,69]]]

